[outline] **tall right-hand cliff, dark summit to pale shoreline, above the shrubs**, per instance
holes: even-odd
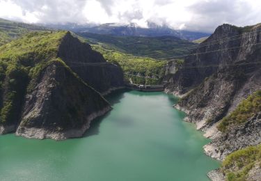
[[[219,26],[168,77],[168,91],[187,93],[177,107],[188,113],[187,120],[197,123],[198,129],[213,125],[261,88],[261,26],[244,30]]]

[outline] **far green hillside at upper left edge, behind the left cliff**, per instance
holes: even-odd
[[[46,31],[47,29],[33,24],[11,22],[0,18],[0,46],[21,37],[30,31]]]

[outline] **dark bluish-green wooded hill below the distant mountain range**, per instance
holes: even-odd
[[[173,36],[162,37],[119,37],[109,35],[99,35],[93,33],[79,33],[87,38],[90,44],[100,44],[105,49],[113,49],[125,54],[135,56],[145,56],[150,58],[166,58],[188,54],[189,51],[182,49],[191,45],[196,45],[187,40],[181,40]]]

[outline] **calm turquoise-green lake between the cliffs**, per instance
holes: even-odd
[[[67,141],[0,136],[0,180],[204,181],[219,162],[164,93],[116,92],[113,110]]]

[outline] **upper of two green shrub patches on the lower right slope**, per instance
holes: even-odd
[[[261,90],[256,91],[250,95],[246,100],[243,100],[235,111],[232,111],[229,116],[221,120],[218,129],[221,132],[228,132],[233,125],[240,125],[255,116],[256,113],[261,111]]]

